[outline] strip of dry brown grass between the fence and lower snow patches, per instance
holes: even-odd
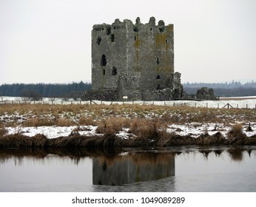
[[[75,115],[81,115],[77,118],[76,124],[79,125],[95,125],[104,123],[108,118],[115,119],[107,125],[112,125],[114,128],[120,129],[117,121],[118,118],[130,118],[132,121],[139,120],[141,125],[145,125],[144,119],[150,117],[154,123],[161,124],[171,123],[235,123],[239,122],[255,122],[255,109],[210,109],[210,108],[194,108],[189,106],[152,106],[152,105],[50,105],[50,104],[2,104],[0,107],[0,115],[24,115],[28,120],[24,123],[18,123],[14,120],[12,123],[5,123],[5,126],[15,126],[16,124],[24,124],[25,126],[67,126],[73,125]],[[32,119],[31,116],[36,115],[37,119]],[[51,116],[52,118],[47,118]],[[58,119],[70,119],[70,121],[58,121]],[[150,125],[149,121],[149,125]],[[101,124],[102,125],[102,124]],[[131,123],[133,131],[136,123]],[[104,124],[105,126],[105,124]],[[140,126],[143,128],[142,126]],[[144,127],[145,128],[145,127]],[[116,130],[114,130],[116,131]]]

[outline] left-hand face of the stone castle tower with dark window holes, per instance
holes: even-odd
[[[92,29],[92,89],[118,88],[126,68],[126,25],[98,24]]]

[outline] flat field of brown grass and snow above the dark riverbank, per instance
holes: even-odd
[[[256,137],[256,109],[139,104],[1,104],[0,137],[221,140]],[[137,142],[136,142],[137,143]],[[189,141],[189,143],[191,143]],[[187,143],[187,144],[189,144]],[[250,143],[252,144],[252,143]]]

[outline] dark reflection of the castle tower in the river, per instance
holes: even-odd
[[[170,152],[131,152],[115,157],[95,157],[92,162],[93,185],[122,186],[174,175],[175,155]]]

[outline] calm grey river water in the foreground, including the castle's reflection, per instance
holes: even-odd
[[[0,191],[256,191],[256,146],[0,150]]]

